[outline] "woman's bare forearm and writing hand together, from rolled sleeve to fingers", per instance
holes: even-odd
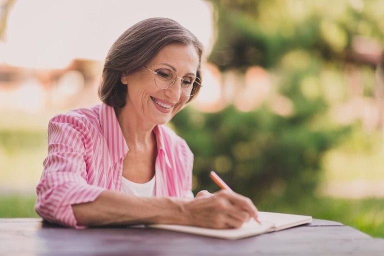
[[[104,190],[91,202],[72,204],[72,209],[77,225],[84,226],[166,223],[231,228],[257,217],[249,198],[227,190],[194,199],[136,197]]]

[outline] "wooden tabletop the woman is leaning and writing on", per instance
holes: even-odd
[[[384,239],[338,222],[312,223],[239,240],[140,227],[75,230],[39,218],[0,218],[0,255],[384,255]]]

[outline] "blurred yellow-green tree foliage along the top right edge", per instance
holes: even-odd
[[[209,61],[221,70],[273,67],[294,49],[345,62],[352,60],[347,53],[354,35],[384,39],[381,0],[210,2],[216,11],[218,33]]]

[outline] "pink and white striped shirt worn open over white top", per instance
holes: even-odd
[[[193,154],[185,140],[156,125],[156,196],[191,197]],[[128,147],[113,107],[106,104],[54,116],[48,124],[48,155],[37,184],[36,212],[75,228],[71,204],[89,202],[105,189],[121,191]]]

